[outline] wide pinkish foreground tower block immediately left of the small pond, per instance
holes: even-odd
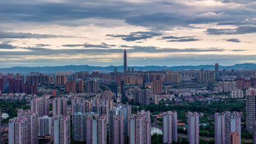
[[[140,111],[129,118],[129,144],[151,143],[150,112]]]

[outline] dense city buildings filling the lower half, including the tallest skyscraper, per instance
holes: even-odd
[[[179,103],[221,99],[222,96],[214,97],[215,93],[224,93],[224,97],[232,99],[243,99],[246,95],[246,130],[255,136],[253,143],[256,143],[255,74],[253,70],[220,70],[218,63],[215,70],[137,71],[127,67],[126,50],[124,72],[117,72],[115,67],[109,74],[97,70],[92,74],[56,72],[48,76],[40,72],[31,72],[30,76],[7,74],[0,76],[0,99],[30,102],[30,109],[18,109],[17,117],[9,120],[8,143],[68,144],[75,140],[149,144],[150,111],[132,113],[132,106],[122,102],[133,100],[136,109],[140,104],[159,104],[159,100]],[[188,85],[175,88],[183,82]],[[107,90],[102,90],[100,84],[108,85]],[[51,90],[51,95],[38,97],[35,94],[40,86],[53,86],[64,91],[61,96]],[[246,93],[244,89],[247,89]],[[90,95],[85,97],[84,93]],[[202,96],[209,94],[212,98]],[[54,98],[50,100],[50,97]],[[188,112],[187,116],[188,142],[197,144],[200,114]],[[163,113],[163,143],[177,141],[177,123],[176,111]],[[240,144],[241,113],[215,113],[214,130],[215,143]]]

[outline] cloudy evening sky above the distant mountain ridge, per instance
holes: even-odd
[[[256,63],[255,0],[0,0],[0,67]]]

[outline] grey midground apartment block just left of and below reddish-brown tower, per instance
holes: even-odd
[[[150,104],[150,90],[141,90],[140,88],[134,88],[134,104],[140,103],[143,106]]]

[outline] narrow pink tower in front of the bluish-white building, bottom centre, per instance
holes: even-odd
[[[124,144],[124,116],[114,116],[114,144]]]

